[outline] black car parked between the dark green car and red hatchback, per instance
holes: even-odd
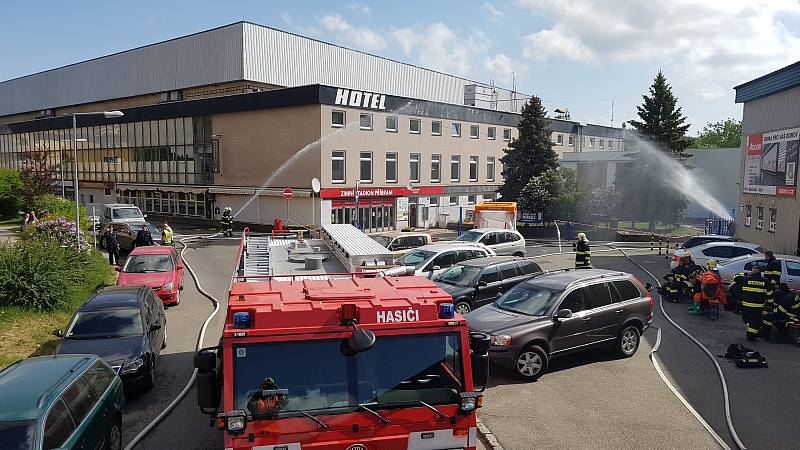
[[[96,354],[116,371],[126,389],[151,388],[158,355],[167,346],[164,304],[147,286],[110,286],[78,308],[56,331],[57,354]]]

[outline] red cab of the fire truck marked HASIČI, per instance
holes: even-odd
[[[447,293],[422,277],[242,272],[220,344],[195,355],[226,449],[475,448],[489,336]]]

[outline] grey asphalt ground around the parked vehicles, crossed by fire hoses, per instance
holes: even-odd
[[[203,286],[224,300],[237,242],[214,241],[193,245],[186,260],[201,277]],[[544,254],[552,248],[530,248]],[[641,252],[640,252],[641,253]],[[594,265],[634,273],[643,282],[647,275],[622,256],[600,256]],[[543,266],[569,265],[571,256],[548,257]],[[635,256],[654,273],[663,274],[663,256]],[[546,261],[546,263],[544,263]],[[157,367],[157,386],[129,398],[125,408],[124,441],[128,442],[155,417],[185,385],[192,371],[197,330],[211,311],[211,304],[185,280],[182,303],[167,310],[169,347]],[[655,294],[658,301],[657,294]],[[745,343],[739,316],[723,313],[712,323],[686,314],[685,304],[666,304],[667,312],[703,341],[714,354],[730,343]],[[224,305],[223,305],[224,311]],[[222,330],[219,315],[209,327],[205,345],[215,344]],[[595,351],[554,361],[550,373],[535,383],[523,383],[493,368],[481,420],[509,449],[530,448],[719,448],[711,435],[668,390],[648,358],[656,328],[662,330],[657,355],[667,376],[705,420],[735,448],[725,424],[722,390],[708,358],[666,323],[656,308],[654,327],[647,331],[637,354],[616,359],[610,352]],[[745,345],[747,345],[745,343]],[[737,369],[719,358],[731,390],[733,420],[749,448],[793,448],[800,433],[792,419],[798,373],[796,351],[785,344],[759,342],[750,347],[762,351],[769,369]],[[207,416],[196,406],[194,390],[137,448],[222,448],[222,434],[208,426]],[[187,430],[191,432],[187,433]]]

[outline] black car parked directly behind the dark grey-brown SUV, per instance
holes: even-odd
[[[462,261],[433,281],[453,296],[456,311],[465,315],[497,300],[520,281],[541,271],[541,267],[529,259],[491,256]]]

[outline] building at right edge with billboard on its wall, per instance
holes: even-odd
[[[800,62],[735,89],[744,104],[736,234],[776,253],[800,254]]]

